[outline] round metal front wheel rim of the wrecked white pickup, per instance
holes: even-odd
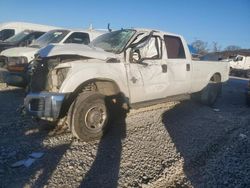
[[[106,107],[103,104],[92,106],[85,114],[86,127],[94,132],[100,131],[107,119]]]

